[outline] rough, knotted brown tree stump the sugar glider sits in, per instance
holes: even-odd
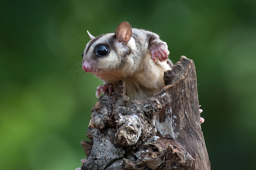
[[[166,86],[126,106],[125,83],[106,92],[92,109],[81,142],[82,170],[209,170],[201,131],[195,65],[182,56],[165,72]]]

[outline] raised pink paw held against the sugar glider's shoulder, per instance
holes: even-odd
[[[151,59],[154,62],[157,62],[157,58],[159,61],[167,61],[168,55],[170,54],[168,47],[165,42],[157,43],[157,44],[150,44],[148,50],[151,53]],[[156,58],[157,57],[157,58]]]

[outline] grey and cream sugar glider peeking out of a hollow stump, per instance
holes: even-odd
[[[88,35],[91,40],[82,53],[82,65],[105,83],[97,87],[97,97],[106,89],[113,92],[119,80],[126,83],[129,102],[145,100],[164,87],[164,71],[171,70],[173,63],[166,42],[157,34],[132,28],[125,21],[115,33]]]

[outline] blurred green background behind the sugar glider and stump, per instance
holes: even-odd
[[[89,37],[127,20],[193,59],[212,170],[256,169],[255,0],[0,2],[0,169],[74,170],[95,90]]]

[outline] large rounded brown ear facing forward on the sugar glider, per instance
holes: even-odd
[[[116,35],[117,41],[123,42],[124,44],[126,44],[132,37],[132,27],[130,26],[129,22],[127,21],[121,22],[121,24],[117,26],[115,35]]]

